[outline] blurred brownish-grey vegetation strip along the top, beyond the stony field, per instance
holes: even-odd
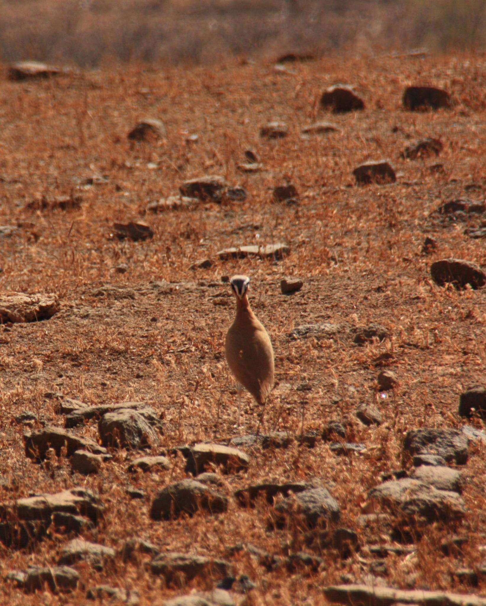
[[[0,0],[0,60],[482,50],[486,0]]]

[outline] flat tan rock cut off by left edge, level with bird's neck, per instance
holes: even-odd
[[[0,324],[48,320],[58,311],[56,295],[0,294]]]

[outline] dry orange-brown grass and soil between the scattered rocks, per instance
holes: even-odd
[[[251,276],[251,303],[276,351],[279,386],[268,405],[267,428],[319,430],[329,419],[352,416],[361,402],[378,405],[385,418],[378,429],[356,428],[356,441],[367,445],[364,455],[337,458],[322,442],[312,449],[294,444],[263,451],[247,474],[227,477],[232,490],[268,477],[318,476],[338,499],[341,525],[358,531],[364,544],[379,542],[381,531],[361,528],[357,518],[378,474],[401,467],[404,432],[422,425],[461,425],[459,393],[484,382],[486,290],[438,288],[429,266],[447,256],[484,266],[486,249],[484,241],[463,235],[464,225],[429,227],[427,215],[451,198],[485,198],[484,58],[346,56],[290,69],[276,73],[269,64],[231,62],[163,71],[132,66],[78,78],[3,83],[0,224],[20,229],[0,239],[0,288],[54,292],[62,308],[49,321],[0,327],[0,470],[13,484],[0,488],[1,501],[84,485],[108,505],[101,526],[85,538],[106,545],[118,548],[125,539],[141,536],[163,548],[216,556],[240,541],[276,554],[287,553],[289,542],[297,550],[301,533],[268,531],[264,504],[254,510],[231,504],[220,516],[151,521],[153,494],[184,477],[180,461],[170,473],[133,479],[126,471],[133,454],[118,451],[98,477],[85,479],[72,475],[65,459],[50,469],[25,459],[22,428],[11,422],[16,413],[32,410],[42,421],[62,425],[50,395],[61,392],[88,404],[133,399],[152,404],[164,419],[167,446],[238,433],[236,392],[222,353],[233,302],[221,276],[232,273]],[[339,133],[301,138],[301,127],[321,117],[319,93],[342,81],[358,85],[367,109],[331,116],[342,128]],[[448,112],[404,112],[404,87],[417,81],[444,85],[458,105]],[[144,116],[165,121],[167,141],[128,143],[128,130]],[[289,136],[260,140],[259,126],[274,118],[288,122]],[[198,142],[186,141],[191,133],[199,135]],[[444,142],[438,159],[444,173],[428,170],[433,160],[399,158],[405,144],[422,136]],[[246,148],[257,151],[262,173],[238,173]],[[382,157],[399,172],[398,182],[356,187],[352,169]],[[247,201],[147,215],[155,231],[147,242],[110,238],[114,221],[140,218],[148,202],[176,193],[182,180],[204,173],[243,185]],[[93,174],[108,180],[79,188],[79,180]],[[271,189],[287,181],[301,195],[298,207],[271,200]],[[25,208],[33,199],[73,191],[82,195],[81,210]],[[421,255],[425,235],[439,242],[431,256]],[[216,262],[210,270],[188,269],[227,245],[279,240],[290,244],[291,254],[278,263],[245,259]],[[124,274],[115,271],[121,263],[128,266]],[[304,278],[300,293],[279,293],[285,275]],[[106,285],[115,290],[95,296]],[[388,328],[389,339],[365,347],[351,343],[348,328],[376,321]],[[292,328],[310,322],[347,328],[335,339],[288,339]],[[385,351],[393,355],[388,366],[399,378],[386,399],[375,389],[376,358]],[[302,390],[304,384],[310,390]],[[243,410],[242,431],[251,431],[257,413],[249,396]],[[81,433],[96,438],[96,425]],[[465,591],[453,571],[478,565],[477,548],[484,544],[484,455],[484,447],[471,446],[464,470],[468,511],[461,531],[472,537],[465,553],[442,556],[437,545],[451,528],[431,525],[416,555],[388,558],[386,584]],[[128,485],[144,488],[147,499],[130,501]],[[53,564],[63,542],[52,537],[33,551],[0,545],[0,574]],[[368,558],[358,554],[341,561],[326,552],[322,557],[325,570],[308,578],[266,573],[245,558],[235,562],[239,573],[256,582],[251,604],[321,604],[322,587],[341,582],[343,574],[356,581],[369,578]],[[82,587],[104,582],[136,588],[142,604],[188,590],[164,588],[143,559],[136,564],[116,559],[104,573],[80,570]],[[80,588],[68,597],[25,596],[10,584],[0,585],[1,604],[84,604],[84,595]]]

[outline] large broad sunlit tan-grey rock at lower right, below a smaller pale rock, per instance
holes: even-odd
[[[414,523],[454,521],[464,518],[465,514],[464,501],[459,494],[437,490],[413,478],[384,482],[371,488],[368,498]]]

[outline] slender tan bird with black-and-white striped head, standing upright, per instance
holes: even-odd
[[[248,276],[233,276],[231,290],[236,299],[236,316],[228,328],[225,356],[231,372],[238,381],[238,427],[241,412],[241,386],[256,402],[264,405],[273,388],[275,361],[270,337],[248,302]]]

